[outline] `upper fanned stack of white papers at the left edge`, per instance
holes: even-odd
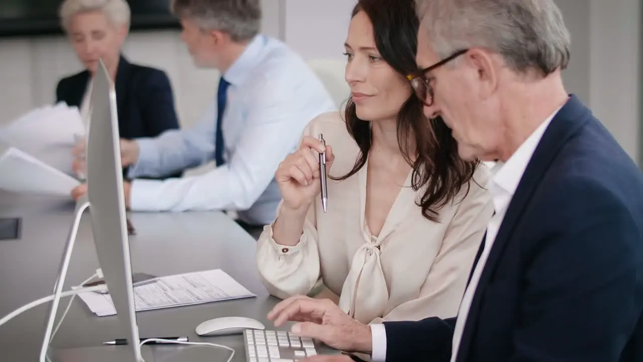
[[[65,103],[32,110],[0,128],[0,141],[72,175],[75,135],[86,126],[77,107]]]

